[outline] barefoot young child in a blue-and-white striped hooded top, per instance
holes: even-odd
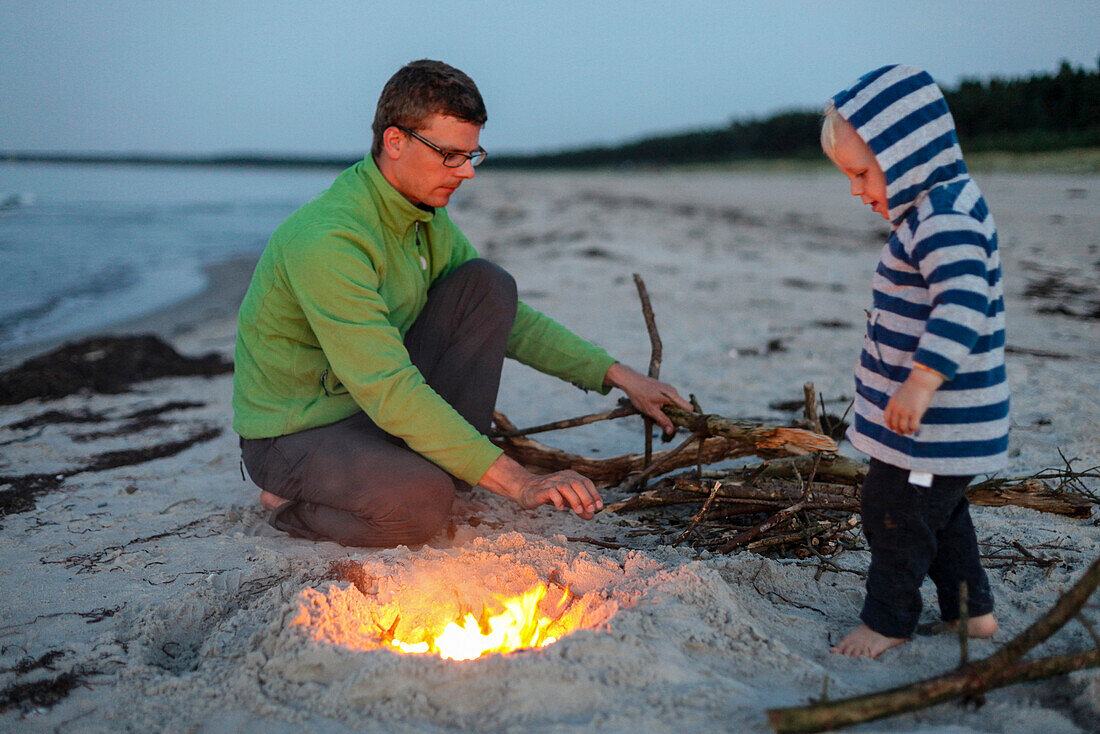
[[[834,653],[878,657],[912,636],[921,583],[948,626],[966,581],[969,634],[997,632],[964,494],[1005,463],[1009,388],[997,229],[967,173],[932,77],[886,66],[836,95],[822,147],[851,195],[891,224],[856,366],[848,438],[871,457],[864,533],[871,548],[860,620]]]

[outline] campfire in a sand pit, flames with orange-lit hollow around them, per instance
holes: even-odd
[[[345,648],[473,660],[552,645],[604,625],[618,611],[598,592],[579,595],[558,571],[549,581],[525,572],[506,582],[471,578],[459,568],[436,571],[306,589],[292,626]]]

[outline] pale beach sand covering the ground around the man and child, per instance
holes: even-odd
[[[1100,464],[1100,179],[979,176],[1001,233],[1013,391],[1010,474]],[[769,407],[813,381],[831,408],[851,395],[862,308],[884,224],[828,173],[488,173],[452,217],[512,271],[521,297],[644,369],[649,342],[630,278],[648,285],[664,342],[662,376],[707,412],[783,421]],[[232,303],[248,263],[155,326],[188,354],[231,355]],[[234,291],[235,288],[235,291]],[[1076,314],[1076,315],[1075,315]],[[118,331],[118,329],[113,329]],[[2,408],[0,475],[51,475],[105,451],[209,435],[155,461],[65,479],[0,517],[0,728],[232,732],[768,731],[763,711],[856,694],[957,664],[955,640],[917,637],[878,661],[828,653],[855,623],[862,580],[805,561],[671,548],[630,515],[584,523],[485,508],[418,549],[364,550],[272,529],[241,474],[231,379],[166,379],[121,395]],[[516,364],[498,406],[518,425],[609,407]],[[140,410],[169,406],[160,421]],[[98,415],[16,429],[46,410]],[[583,453],[640,448],[636,418],[548,435]],[[846,449],[850,452],[850,449]],[[10,480],[9,480],[10,481]],[[608,491],[605,499],[620,494]],[[1093,519],[975,508],[982,541],[1018,540],[1052,568],[991,562],[1003,631],[992,651],[1048,607],[1100,552]],[[679,528],[676,528],[679,530]],[[624,546],[603,548],[570,538]],[[866,569],[866,552],[843,565]],[[355,563],[360,583],[333,578]],[[344,567],[346,568],[346,566]],[[556,644],[457,662],[362,649],[404,610],[518,593],[551,574],[584,628]],[[551,585],[551,594],[558,587]],[[560,591],[557,591],[560,593]],[[418,616],[419,615],[419,616]],[[1093,610],[1094,615],[1094,610]],[[925,587],[925,621],[936,617]],[[365,640],[365,642],[364,642]],[[1070,625],[1041,650],[1081,649]],[[40,691],[42,698],[23,694]],[[56,692],[55,699],[45,691]],[[992,692],[980,710],[943,705],[869,732],[1087,732],[1100,727],[1100,675]]]

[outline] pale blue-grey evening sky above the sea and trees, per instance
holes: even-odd
[[[362,154],[386,79],[469,74],[491,153],[820,107],[883,64],[1096,68],[1097,0],[0,0],[0,151]]]

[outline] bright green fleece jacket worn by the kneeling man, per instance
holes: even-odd
[[[283,222],[241,304],[233,429],[270,438],[364,410],[449,473],[475,484],[501,450],[424,381],[404,337],[428,288],[476,258],[446,209],[410,204],[373,158]],[[606,393],[614,360],[520,303],[508,357]]]

